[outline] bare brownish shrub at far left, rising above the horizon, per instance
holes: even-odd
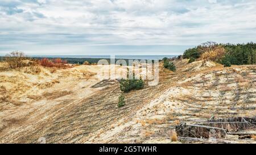
[[[5,56],[5,61],[9,65],[10,69],[19,69],[28,64],[24,61],[26,60],[26,55],[23,52],[14,51]]]

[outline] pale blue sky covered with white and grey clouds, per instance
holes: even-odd
[[[0,0],[0,55],[181,55],[255,40],[255,0]]]

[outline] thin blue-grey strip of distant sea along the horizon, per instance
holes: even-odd
[[[176,55],[123,55],[123,56],[115,56],[116,59],[149,59],[149,60],[162,60],[164,57],[172,58]],[[48,57],[48,58],[110,58],[110,56],[81,56],[81,55],[74,55],[74,56],[30,56],[30,57]]]

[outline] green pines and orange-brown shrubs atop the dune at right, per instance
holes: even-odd
[[[217,44],[208,41],[195,48],[187,49],[183,58],[200,58],[230,65],[256,64],[256,43]]]

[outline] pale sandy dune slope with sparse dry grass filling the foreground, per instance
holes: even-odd
[[[256,115],[255,65],[175,64],[176,73],[160,68],[158,86],[125,94],[122,108],[118,82],[98,79],[97,66],[39,75],[0,72],[2,96],[11,96],[0,105],[0,142],[172,143],[181,122]]]

